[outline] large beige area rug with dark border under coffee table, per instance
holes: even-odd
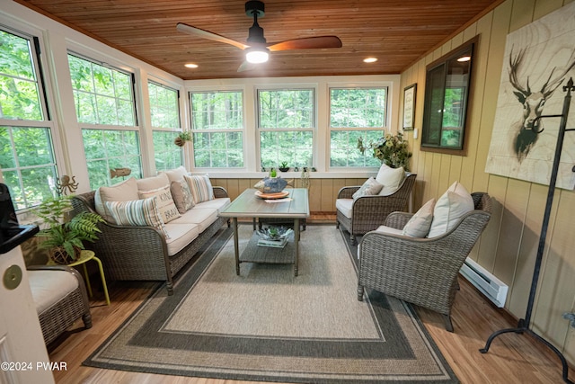
[[[239,228],[240,248],[252,234]],[[347,234],[345,235],[347,236]],[[308,383],[455,383],[409,305],[367,291],[357,299],[355,248],[340,229],[308,225],[299,273],[242,263],[223,228],[84,365],[169,375]]]

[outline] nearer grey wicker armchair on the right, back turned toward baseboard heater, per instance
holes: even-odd
[[[450,315],[458,288],[457,273],[491,217],[490,196],[473,192],[472,197],[475,210],[441,236],[367,233],[358,255],[358,300],[363,300],[364,287],[378,290],[442,314],[447,331],[453,332]],[[401,229],[411,216],[394,212],[385,226]]]

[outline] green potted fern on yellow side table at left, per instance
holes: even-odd
[[[97,225],[104,221],[102,216],[92,212],[81,212],[66,220],[70,210],[71,196],[47,199],[33,210],[46,226],[36,234],[44,238],[39,247],[48,249],[50,258],[59,264],[75,262],[85,249],[84,241],[94,242],[98,239],[97,234],[101,230]]]

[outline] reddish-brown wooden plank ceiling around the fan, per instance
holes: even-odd
[[[15,1],[192,80],[399,74],[502,0],[267,0],[259,23],[268,42],[335,35],[343,47],[271,52],[267,63],[243,72],[243,50],[176,31],[184,22],[244,42],[252,18],[243,0]],[[367,57],[378,60],[366,64]]]

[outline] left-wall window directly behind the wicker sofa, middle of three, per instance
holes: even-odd
[[[116,168],[141,177],[132,75],[68,54],[75,112],[82,126],[90,187],[116,183]],[[124,176],[125,177],[125,176]]]

